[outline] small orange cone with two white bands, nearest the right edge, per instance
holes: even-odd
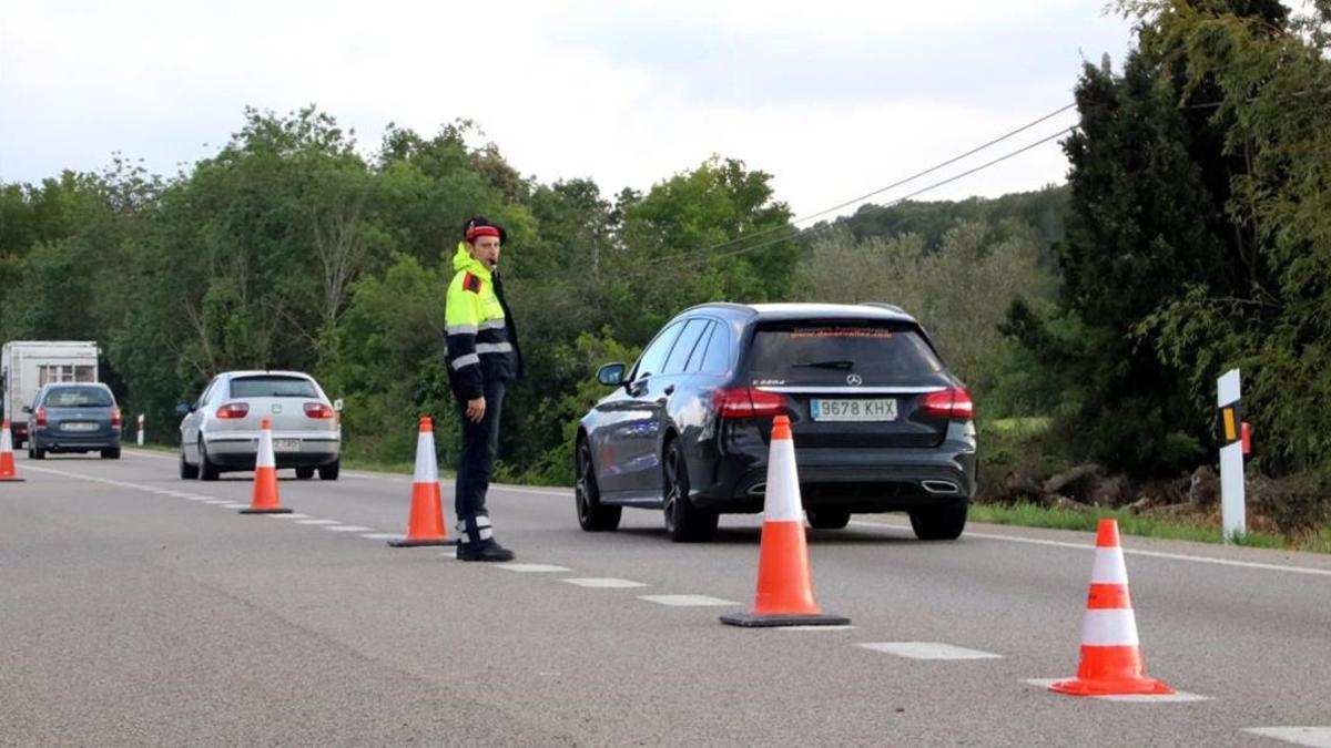
[[[1174,692],[1142,672],[1142,646],[1137,639],[1137,618],[1127,596],[1127,567],[1114,519],[1101,519],[1095,532],[1095,566],[1082,618],[1082,661],[1077,677],[1059,680],[1049,688],[1073,696]]]

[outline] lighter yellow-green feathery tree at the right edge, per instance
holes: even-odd
[[[1123,8],[1153,29],[1179,98],[1211,97],[1207,121],[1235,165],[1225,209],[1242,237],[1226,257],[1231,282],[1187,278],[1138,333],[1189,371],[1198,409],[1219,373],[1243,369],[1260,468],[1331,475],[1331,4],[1288,24],[1283,8],[1217,1]]]

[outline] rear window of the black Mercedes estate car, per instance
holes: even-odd
[[[753,375],[819,381],[857,373],[873,379],[928,375],[944,369],[920,333],[882,322],[781,322],[753,334]]]

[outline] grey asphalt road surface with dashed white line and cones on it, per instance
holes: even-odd
[[[19,472],[4,745],[1331,745],[1331,556],[1125,538],[1146,669],[1185,697],[1114,701],[1030,683],[1075,673],[1083,532],[809,531],[853,626],[740,630],[717,615],[753,602],[759,518],[672,544],[655,511],[586,534],[568,491],[494,487],[518,564],[476,564],[386,544],[407,476],[284,479],[295,514],[245,516],[249,474],[169,455]]]

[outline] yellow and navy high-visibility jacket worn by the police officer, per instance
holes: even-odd
[[[471,257],[466,242],[453,257],[457,274],[443,303],[449,382],[462,401],[482,397],[487,379],[522,375],[518,331],[498,274]]]

